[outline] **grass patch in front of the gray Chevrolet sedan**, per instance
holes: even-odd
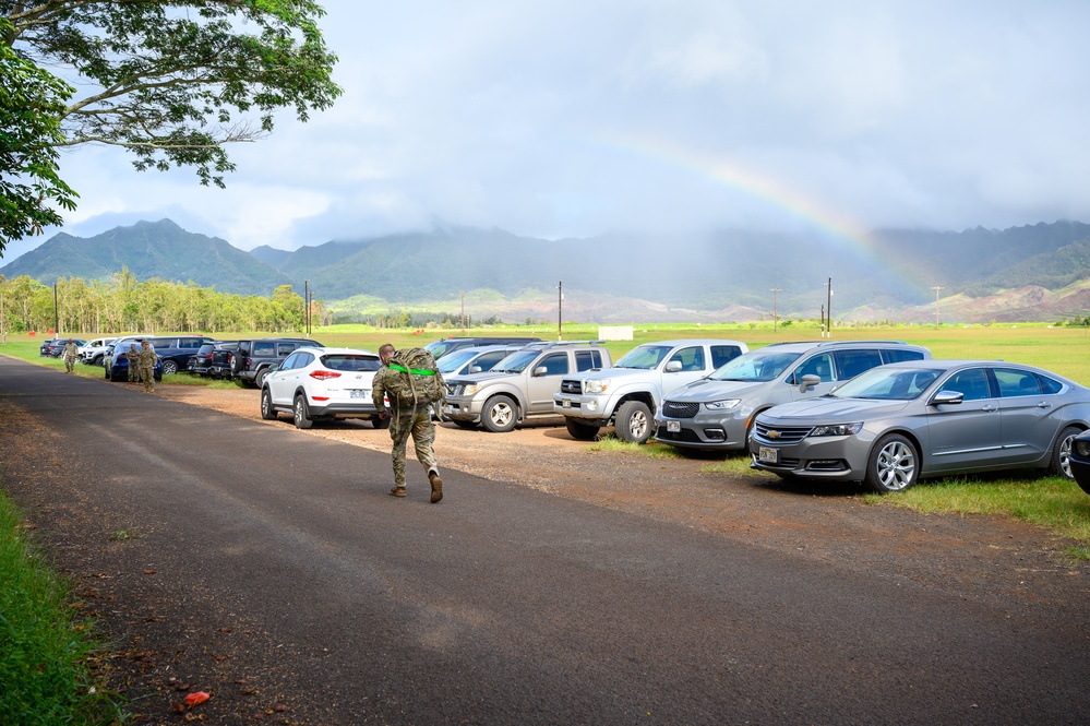
[[[1082,546],[1066,548],[1090,559],[1090,497],[1058,476],[1030,479],[951,477],[920,481],[896,495],[864,495],[865,501],[924,513],[997,514],[1047,527]]]

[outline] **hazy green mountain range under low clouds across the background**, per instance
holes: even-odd
[[[584,322],[816,318],[947,322],[1057,320],[1090,310],[1090,225],[1041,223],[960,233],[803,230],[606,234],[547,240],[491,228],[333,240],[250,252],[169,219],[101,235],[58,234],[0,267],[44,284],[109,279],[193,282],[267,296],[304,285],[331,309],[430,306],[475,318]],[[306,282],[304,282],[306,281]],[[563,302],[559,302],[561,289]]]

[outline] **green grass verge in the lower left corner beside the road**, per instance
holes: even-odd
[[[0,493],[0,724],[123,721],[120,699],[94,668],[104,648],[91,629]]]

